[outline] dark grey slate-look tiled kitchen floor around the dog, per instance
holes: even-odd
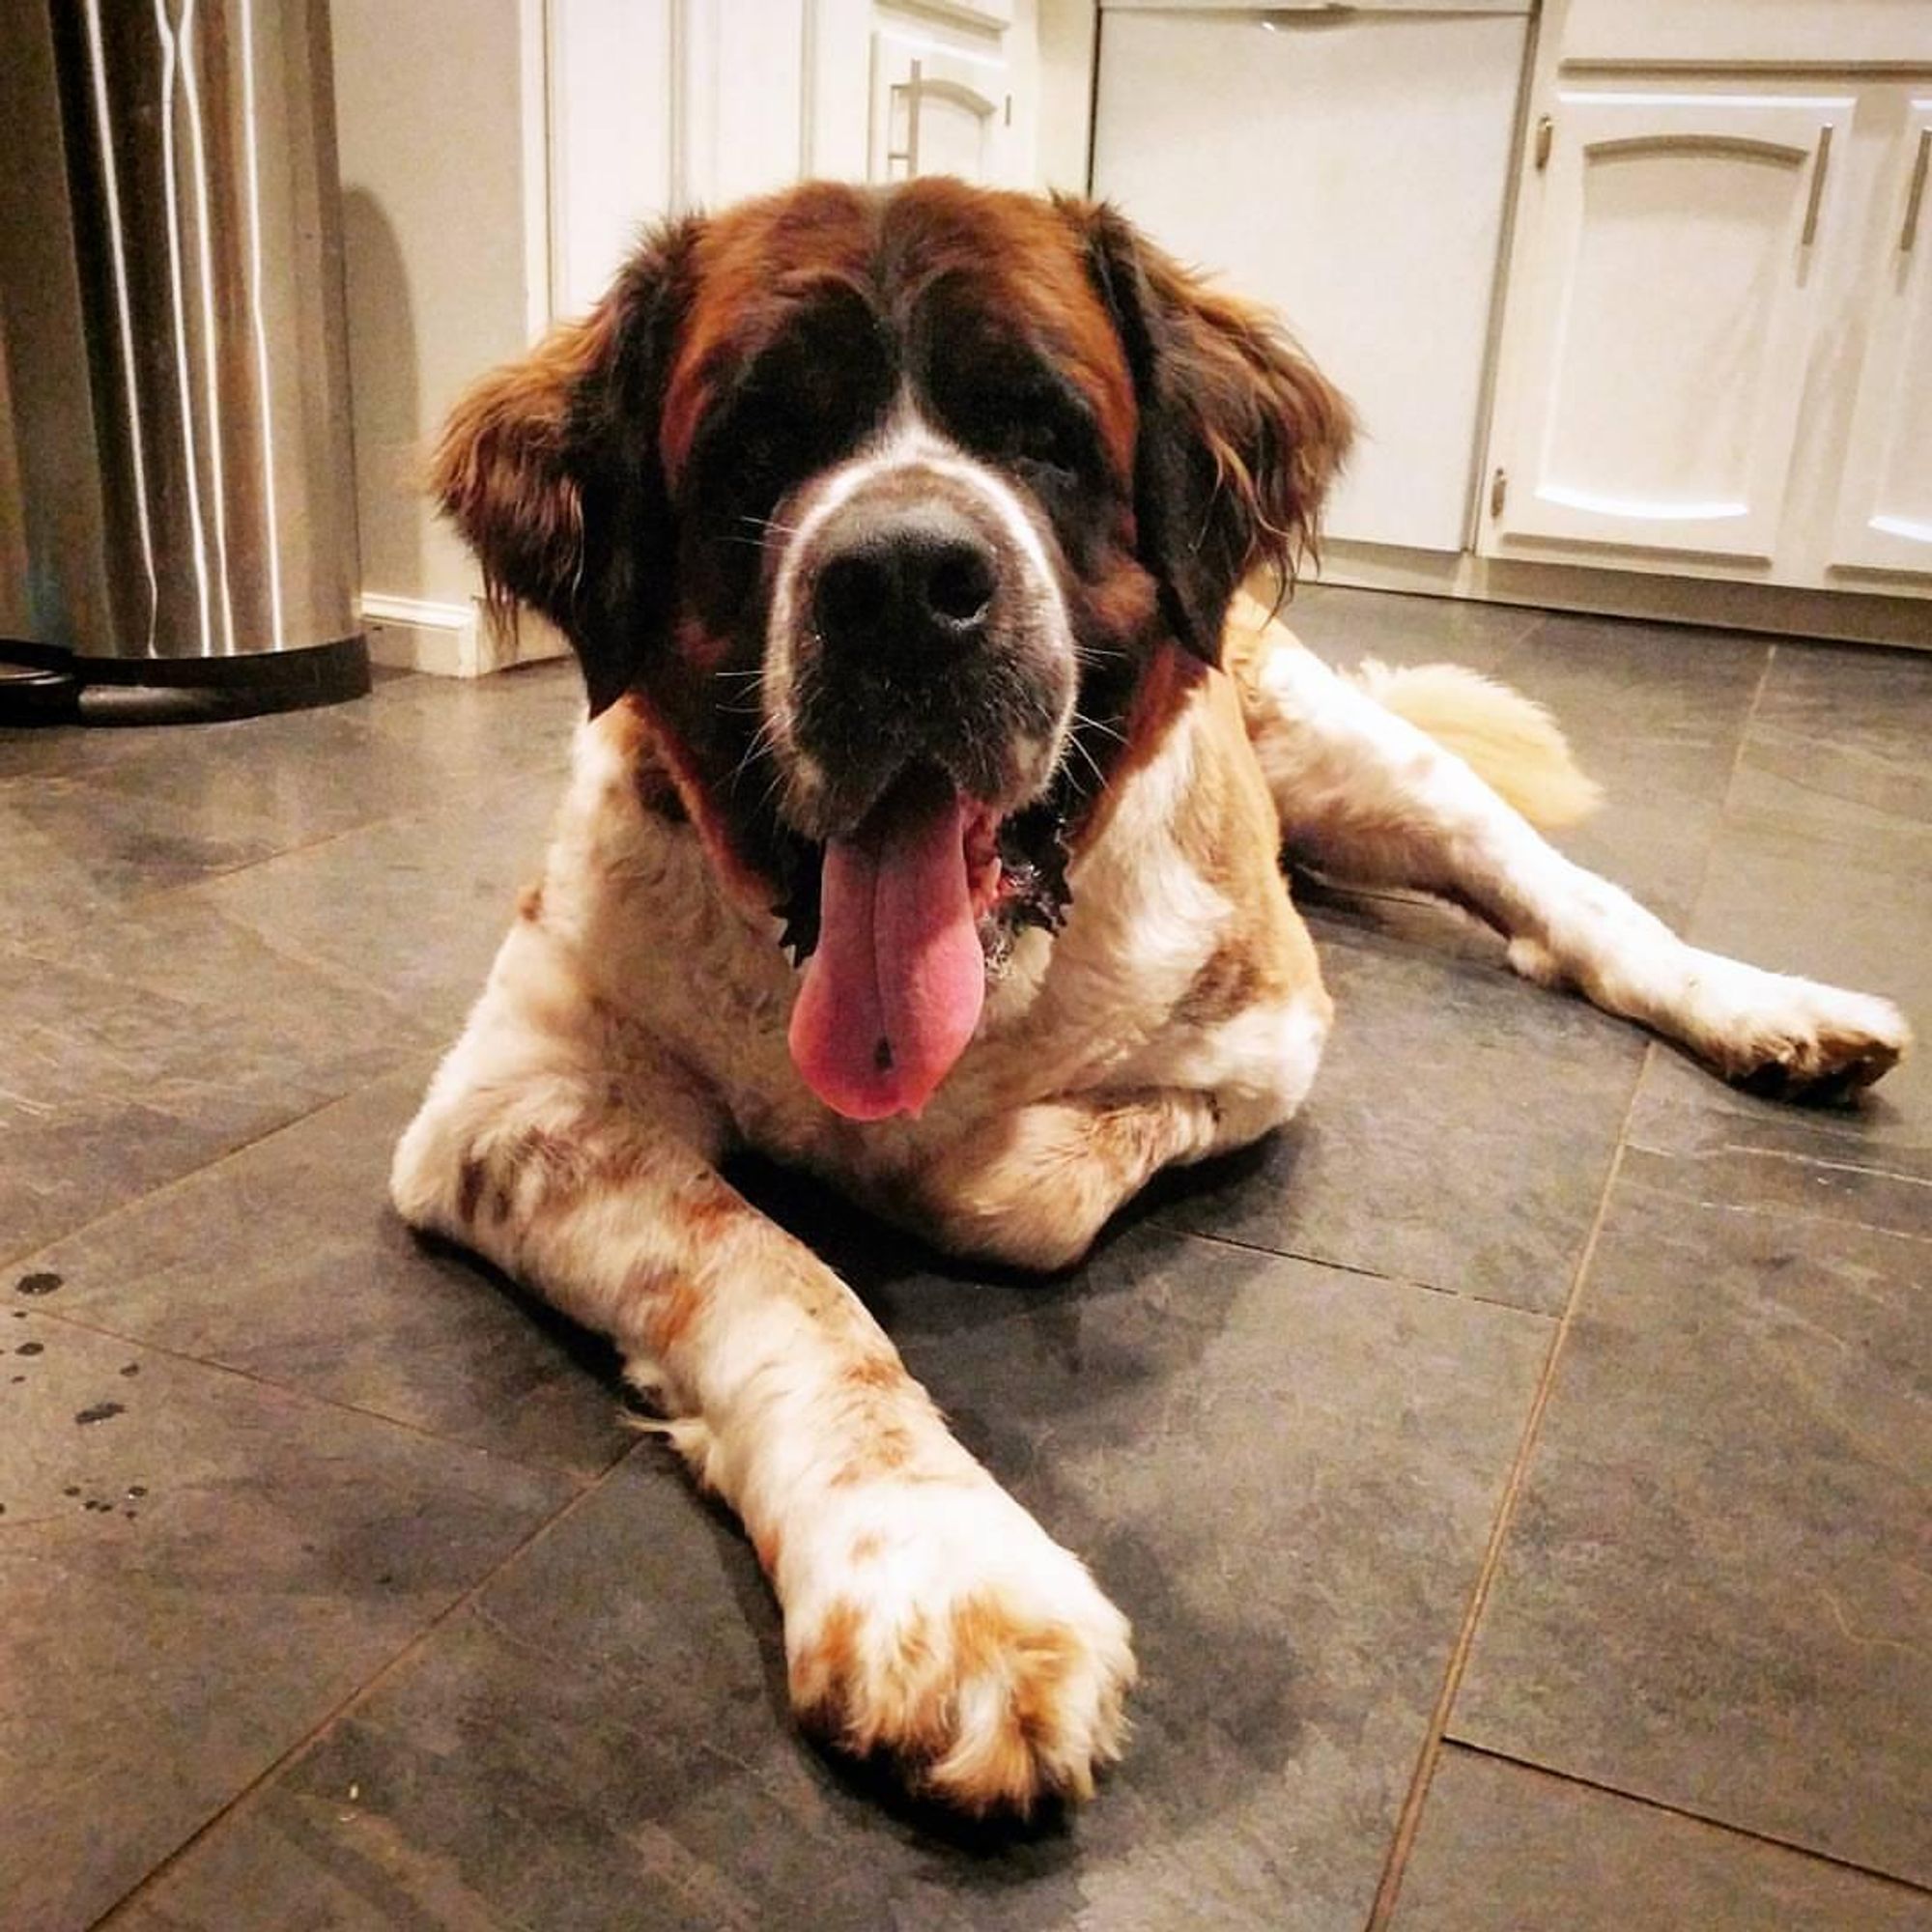
[[[1571,850],[1932,1014],[1932,661],[1298,622],[1544,697]],[[574,705],[0,734],[0,1924],[1932,1924],[1924,1061],[1770,1107],[1327,896],[1306,1117],[1066,1283],[748,1173],[1136,1623],[1099,1801],[943,1832],[796,1739],[607,1356],[383,1206]]]

